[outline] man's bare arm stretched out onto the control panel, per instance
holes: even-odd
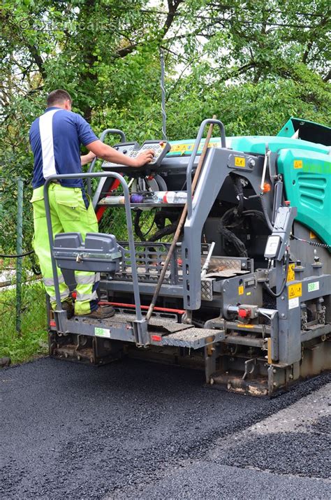
[[[89,143],[86,145],[86,148],[94,153],[94,155],[96,155],[98,158],[105,159],[106,162],[112,162],[126,166],[143,166],[149,162],[152,162],[152,159],[154,157],[153,150],[146,150],[140,153],[138,157],[133,159],[126,155],[123,155],[122,152],[111,148],[101,141],[94,141],[92,143]]]

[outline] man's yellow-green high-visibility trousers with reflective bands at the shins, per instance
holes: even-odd
[[[44,187],[41,186],[34,190],[31,199],[32,206],[34,207],[34,250],[41,265],[46,292],[50,296],[52,308],[55,309],[55,288],[43,189]],[[60,184],[50,183],[48,194],[53,236],[58,233],[79,232],[84,241],[87,233],[98,232],[98,221],[96,220],[94,208],[91,202],[89,203],[89,207],[86,208],[80,187],[63,187]],[[57,268],[57,276],[59,278],[61,302],[63,302],[68,299],[70,292],[59,268]],[[99,273],[75,271],[75,281],[77,284],[75,314],[89,314],[98,307],[96,289],[99,280]]]

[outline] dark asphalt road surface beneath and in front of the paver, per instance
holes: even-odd
[[[2,499],[330,499],[324,375],[280,397],[135,360],[0,372]]]

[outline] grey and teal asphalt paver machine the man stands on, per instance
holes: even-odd
[[[207,124],[220,138],[203,140]],[[156,153],[140,169],[103,162],[100,172],[80,175],[89,185],[98,179],[99,220],[108,210],[125,211],[127,241],[117,241],[114,226],[85,241],[79,233],[53,238],[47,187],[60,177],[45,184],[57,291],[57,310],[48,308],[50,355],[94,365],[129,356],[189,366],[205,370],[212,387],[257,396],[330,369],[331,129],[291,118],[277,136],[226,138],[213,119],[195,141],[142,146],[115,129],[102,140],[112,133],[126,155]],[[145,210],[154,210],[157,226],[147,241],[139,223]],[[101,273],[99,299],[115,316],[68,319],[56,266],[71,290],[74,271]]]

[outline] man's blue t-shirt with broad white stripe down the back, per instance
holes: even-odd
[[[34,120],[30,129],[30,145],[34,153],[32,187],[45,184],[53,174],[80,173],[80,145],[98,138],[89,124],[77,113],[53,106]],[[82,187],[82,179],[59,180],[65,187]]]

